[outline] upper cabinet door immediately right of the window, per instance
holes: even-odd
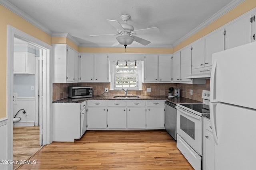
[[[158,81],[158,55],[147,55],[144,58],[144,80],[145,82]]]

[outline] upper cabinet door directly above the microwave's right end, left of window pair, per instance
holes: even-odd
[[[80,80],[93,81],[93,54],[83,54],[80,59]]]

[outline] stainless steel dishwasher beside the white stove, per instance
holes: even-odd
[[[166,101],[165,102],[165,129],[172,136],[172,138],[177,140],[176,131],[176,104]]]

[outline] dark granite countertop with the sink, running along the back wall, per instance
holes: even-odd
[[[91,98],[64,98],[60,100],[56,100],[53,103],[82,103],[86,100],[168,100],[173,104],[177,103],[202,103],[197,100],[192,100],[189,98],[179,97],[179,98],[168,98],[168,96],[140,96],[140,98],[133,98],[133,99],[120,99],[120,98],[113,98],[113,96],[93,96]]]

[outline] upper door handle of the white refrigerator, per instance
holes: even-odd
[[[212,64],[211,81],[210,81],[210,102],[218,102],[215,99],[216,98],[216,86],[215,86],[216,67],[217,67],[217,61],[214,60]]]

